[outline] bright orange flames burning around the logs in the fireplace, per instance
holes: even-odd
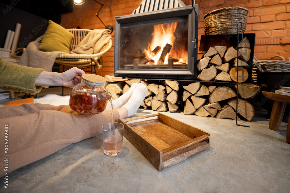
[[[176,27],[177,22],[154,25],[152,41],[151,43],[148,43],[148,48],[144,49],[146,59],[149,61],[146,64],[153,64],[154,61],[154,64],[156,65],[158,60],[163,58],[160,58],[160,56],[162,55],[164,48],[167,48],[167,50],[169,49],[170,51],[167,54],[165,52],[166,56],[162,64],[168,64],[168,58],[174,58],[174,64],[187,64],[187,50],[184,49],[184,46],[174,46],[174,43],[178,41],[174,36]]]

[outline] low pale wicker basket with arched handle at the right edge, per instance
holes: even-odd
[[[279,57],[282,60],[272,60]],[[290,59],[289,62],[285,60],[283,56],[273,56],[270,60],[257,60],[257,63],[267,72],[290,72]]]

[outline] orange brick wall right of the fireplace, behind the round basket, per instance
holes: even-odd
[[[183,1],[191,5],[191,0]],[[212,10],[241,6],[249,10],[245,33],[255,33],[258,60],[272,56],[290,57],[290,0],[196,0],[199,4],[199,38],[204,34],[204,15]],[[201,57],[201,54],[199,55]],[[276,58],[278,59],[278,58]]]

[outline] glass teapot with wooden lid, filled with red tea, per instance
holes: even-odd
[[[83,74],[81,82],[70,93],[70,108],[83,115],[102,113],[112,95],[105,88],[106,79],[96,74]]]

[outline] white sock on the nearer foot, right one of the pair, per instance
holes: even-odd
[[[146,93],[146,86],[142,83],[139,83],[136,89],[133,91],[128,102],[124,105],[124,107],[128,110],[128,117],[135,115],[142,101],[145,99]]]

